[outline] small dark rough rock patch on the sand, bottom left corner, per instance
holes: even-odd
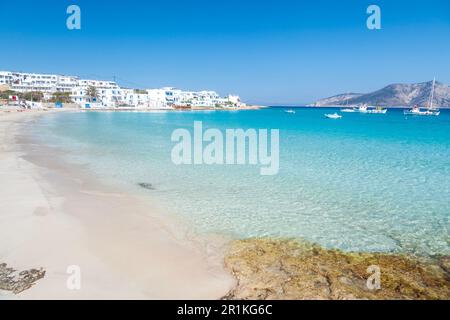
[[[2,263],[0,264],[0,290],[18,294],[31,288],[36,281],[44,276],[45,271],[42,268],[17,271],[8,268],[6,263]]]

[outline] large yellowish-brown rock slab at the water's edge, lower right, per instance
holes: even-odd
[[[225,258],[237,285],[223,299],[450,299],[448,261],[345,253],[297,240],[237,240]],[[367,285],[370,266],[380,271],[380,289]]]

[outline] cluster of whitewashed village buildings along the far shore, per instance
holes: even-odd
[[[183,91],[173,87],[160,89],[125,89],[114,81],[80,79],[76,76],[0,71],[0,85],[16,92],[40,91],[45,99],[54,93],[68,93],[81,107],[114,108],[131,106],[138,108],[163,109],[186,107],[239,107],[239,96],[221,98],[215,91]],[[88,95],[89,88],[95,88],[96,96]]]

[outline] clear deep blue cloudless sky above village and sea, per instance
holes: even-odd
[[[66,28],[66,8],[82,28]],[[381,7],[382,30],[366,9]],[[0,2],[0,70],[302,104],[436,76],[450,84],[450,1]]]

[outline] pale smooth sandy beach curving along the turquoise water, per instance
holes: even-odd
[[[44,147],[19,144],[20,124],[44,113],[0,112],[0,263],[46,270],[31,289],[0,299],[217,299],[228,292],[234,280],[220,247],[187,240],[136,197]],[[70,265],[81,268],[80,290],[67,288]]]

